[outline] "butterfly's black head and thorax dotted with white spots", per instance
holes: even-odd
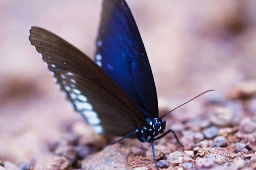
[[[136,129],[136,135],[141,142],[151,142],[154,137],[163,133],[166,127],[166,121],[163,119],[148,119],[146,118],[147,125],[141,129]]]

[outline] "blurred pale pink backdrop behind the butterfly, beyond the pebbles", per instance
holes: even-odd
[[[81,119],[30,45],[29,28],[52,31],[93,57],[101,1],[0,1],[0,160],[36,158]],[[232,85],[256,78],[255,0],[127,2],[151,63],[160,109],[215,89],[186,106],[200,110],[202,99],[223,100]]]

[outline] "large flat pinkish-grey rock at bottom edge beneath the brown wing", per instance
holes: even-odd
[[[130,147],[119,143],[104,147],[99,153],[94,153],[81,161],[83,170],[111,170],[126,168],[128,155],[132,153]],[[152,160],[152,164],[154,164]]]

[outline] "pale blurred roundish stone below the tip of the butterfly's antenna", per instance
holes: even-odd
[[[233,111],[224,107],[215,108],[214,113],[210,116],[210,121],[218,127],[233,126],[236,122]]]

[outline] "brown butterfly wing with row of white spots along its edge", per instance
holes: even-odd
[[[145,124],[131,99],[79,49],[38,27],[30,29],[29,40],[58,87],[96,133],[123,136]]]

